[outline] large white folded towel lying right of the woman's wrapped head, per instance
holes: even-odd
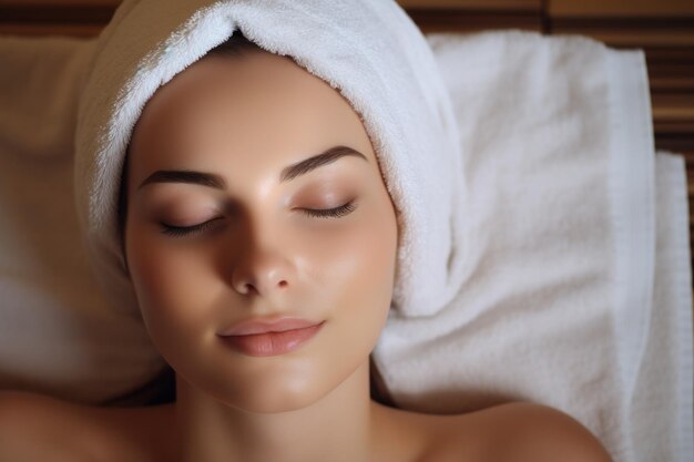
[[[659,254],[659,270],[680,273],[654,286],[643,54],[522,32],[429,41],[466,153],[471,270],[437,316],[391,311],[375,359],[395,401],[456,412],[531,400],[576,417],[616,461],[692,460],[686,183],[661,185],[676,188],[676,214],[662,218],[681,234],[676,253]],[[688,322],[653,326],[654,288],[657,309]],[[653,367],[660,357],[671,362]],[[653,394],[669,396],[667,411]],[[656,421],[661,431],[644,437]]]

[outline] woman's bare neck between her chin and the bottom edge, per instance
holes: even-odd
[[[367,461],[376,408],[368,362],[308,407],[255,413],[229,407],[176,377],[181,461]]]

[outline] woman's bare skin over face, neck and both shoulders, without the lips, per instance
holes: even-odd
[[[305,163],[335,146],[358,154]],[[545,407],[427,415],[370,400],[397,212],[358,114],[290,59],[207,57],[176,75],[135,126],[126,187],[126,260],[176,402],[103,409],[3,392],[0,460],[610,461]],[[220,337],[278,316],[323,327],[269,357]]]

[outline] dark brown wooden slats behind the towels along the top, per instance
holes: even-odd
[[[0,33],[91,37],[120,0],[0,0]],[[694,203],[694,0],[400,0],[425,32],[579,33],[645,51],[655,145],[686,156]],[[691,207],[692,208],[692,207]],[[694,236],[690,213],[690,234]],[[693,239],[694,242],[694,239]]]

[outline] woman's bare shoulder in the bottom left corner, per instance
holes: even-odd
[[[111,409],[0,391],[2,461],[151,461],[164,439],[163,407]]]

